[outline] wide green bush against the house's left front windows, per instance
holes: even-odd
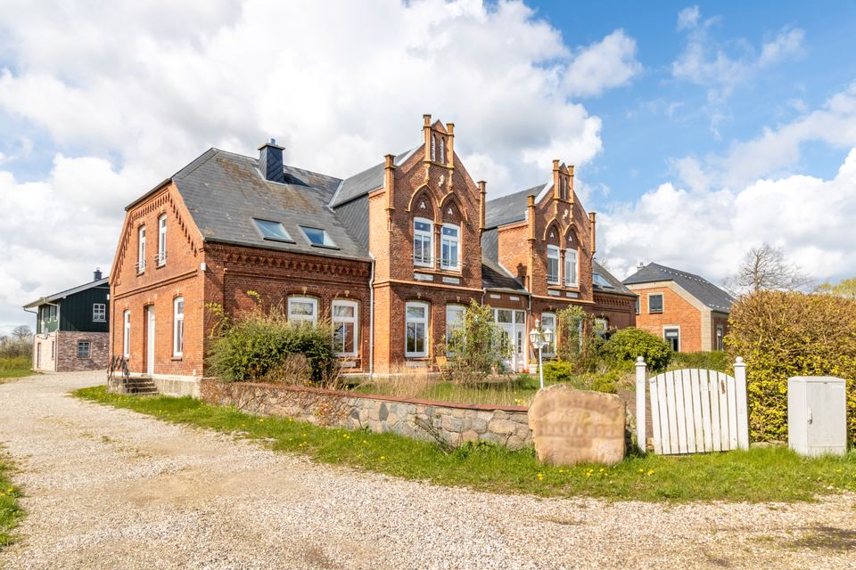
[[[338,377],[332,331],[325,324],[288,322],[281,307],[265,311],[260,305],[221,324],[208,356],[219,379],[329,386]]]

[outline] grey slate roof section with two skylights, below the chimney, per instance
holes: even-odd
[[[367,249],[327,207],[341,181],[294,167],[285,167],[285,175],[287,183],[270,182],[258,159],[210,149],[172,180],[206,241],[368,259]],[[293,243],[263,239],[253,218],[282,223]],[[326,230],[337,248],[310,245],[300,225]]]

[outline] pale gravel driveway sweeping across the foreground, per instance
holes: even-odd
[[[856,568],[856,500],[661,505],[472,493],[0,385],[29,516],[8,568]]]

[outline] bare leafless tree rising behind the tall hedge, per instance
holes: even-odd
[[[790,263],[783,248],[764,242],[746,252],[737,273],[723,282],[732,293],[764,290],[795,291],[811,284],[799,265]]]

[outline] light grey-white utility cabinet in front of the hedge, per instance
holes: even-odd
[[[844,380],[834,376],[787,379],[787,444],[801,455],[847,452]]]

